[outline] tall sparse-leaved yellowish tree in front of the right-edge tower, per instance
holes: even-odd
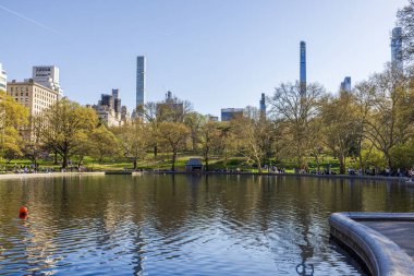
[[[388,67],[375,74],[366,93],[372,93],[372,106],[365,121],[365,139],[383,154],[386,164],[393,168],[391,151],[410,137],[414,123],[414,89],[411,72]]]

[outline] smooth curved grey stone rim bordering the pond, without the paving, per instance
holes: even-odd
[[[412,275],[413,260],[399,245],[378,231],[354,220],[365,220],[369,215],[370,218],[393,217],[393,220],[400,220],[399,215],[407,217],[406,214],[333,213],[329,217],[331,236],[356,253],[372,275]]]

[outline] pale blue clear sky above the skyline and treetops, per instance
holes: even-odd
[[[9,80],[56,64],[66,96],[95,104],[121,89],[135,103],[136,56],[147,59],[147,99],[167,91],[203,113],[258,106],[299,79],[331,92],[390,60],[390,32],[406,0],[0,0],[0,62]]]

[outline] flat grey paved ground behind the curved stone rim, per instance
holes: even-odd
[[[363,224],[395,242],[414,261],[414,221],[364,221]]]

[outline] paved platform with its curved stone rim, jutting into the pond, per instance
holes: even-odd
[[[372,275],[414,274],[414,213],[333,213],[329,225]]]

